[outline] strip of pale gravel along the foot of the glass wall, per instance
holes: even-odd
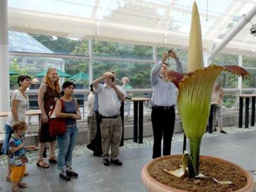
[[[237,126],[230,126],[230,127],[225,127],[224,130],[227,131],[228,134],[234,134],[237,132],[254,131],[254,130],[256,130],[256,127],[250,127],[250,129],[243,129],[243,128],[241,129],[241,128],[237,128]],[[207,132],[204,134],[204,137],[208,138],[208,137],[214,137],[214,136],[219,136],[219,135],[223,135],[223,134],[218,131],[213,132],[212,134],[209,134]],[[152,146],[153,141],[154,140],[153,140],[152,136],[144,137],[143,143],[141,143],[141,144],[133,143],[132,139],[125,140],[124,146],[120,147],[120,150]],[[183,133],[182,132],[173,134],[172,142],[177,142],[177,141],[183,141]],[[47,150],[47,151],[49,151],[49,150]],[[28,161],[29,161],[28,164],[36,163],[37,153],[38,153],[37,151],[27,153],[27,157],[28,157]],[[57,154],[58,154],[58,148],[56,148],[56,155]],[[92,156],[92,151],[88,150],[88,148],[86,148],[86,144],[76,145],[76,147],[74,149],[74,157],[79,157],[79,156]],[[0,156],[0,168],[3,168],[5,166],[6,166],[6,157]],[[250,173],[252,173],[252,175],[256,181],[256,170],[252,170],[252,171],[250,171]]]

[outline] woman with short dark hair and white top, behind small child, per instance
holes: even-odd
[[[15,90],[12,93],[12,109],[8,115],[8,119],[5,123],[5,138],[2,147],[2,153],[8,155],[8,148],[9,148],[9,141],[11,135],[13,133],[12,125],[15,122],[26,122],[26,111],[29,105],[28,97],[26,96],[25,92],[27,88],[31,85],[31,78],[29,76],[19,76],[17,78],[17,83],[19,84],[19,89]],[[6,180],[10,180],[11,168],[10,168],[10,158],[7,157],[7,174]],[[28,175],[28,174],[27,174]]]

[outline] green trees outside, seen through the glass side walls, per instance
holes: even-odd
[[[152,10],[150,10],[152,11]],[[55,53],[75,54],[88,56],[88,41],[87,40],[72,40],[69,38],[52,37],[44,35],[32,35],[38,42],[45,45]],[[170,47],[172,48],[172,47]],[[124,76],[131,80],[132,88],[151,88],[150,86],[150,70],[154,63],[143,63],[143,60],[152,60],[153,49],[150,46],[129,45],[118,42],[92,42],[93,57],[93,78],[101,76],[104,72],[111,70],[116,73],[117,84],[122,84],[121,79]],[[157,47],[157,61],[161,60],[163,52],[168,51],[166,47]],[[182,49],[174,49],[182,62],[184,72],[186,72],[186,63],[188,51]],[[126,58],[141,60],[140,62],[128,61],[100,61],[97,57],[106,58]],[[66,59],[65,72],[70,75],[84,72],[88,74],[89,60],[82,59]],[[175,69],[175,61],[170,58],[170,69]],[[232,54],[218,54],[212,61],[216,65],[238,65],[238,56]],[[256,57],[243,57],[244,67],[255,67]],[[28,74],[28,68],[19,70],[17,60],[13,60],[10,69],[19,71],[19,74]],[[243,88],[255,88],[256,68],[249,70],[251,77],[243,80]],[[11,84],[15,84],[17,76],[11,76]],[[223,73],[218,77],[218,82],[223,88],[237,88],[238,78],[235,75]],[[81,79],[76,83],[83,84],[84,88],[88,88],[88,79]],[[225,93],[223,99],[226,108],[230,108],[236,104],[236,93]]]

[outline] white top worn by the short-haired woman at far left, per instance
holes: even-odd
[[[26,122],[26,111],[29,105],[28,98],[24,97],[22,92],[20,90],[15,90],[12,93],[12,100],[19,100],[18,108],[17,108],[17,114],[19,121]],[[12,112],[9,113],[8,119],[6,121],[6,125],[9,125],[12,127],[14,124]]]

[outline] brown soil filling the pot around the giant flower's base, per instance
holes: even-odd
[[[215,177],[219,181],[230,180],[232,184],[220,185],[213,180],[175,177],[163,172],[163,169],[177,170],[180,168],[180,159],[161,159],[148,168],[148,173],[158,182],[175,189],[195,192],[236,191],[246,186],[246,177],[234,164],[214,161],[213,159],[200,159],[200,173]]]

